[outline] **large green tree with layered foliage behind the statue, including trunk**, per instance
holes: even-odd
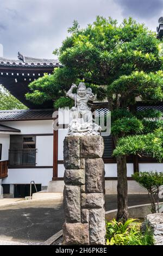
[[[146,133],[152,133],[155,139],[157,135],[153,132],[162,126],[159,111],[135,111],[136,99],[148,103],[162,100],[161,44],[154,33],[131,18],[118,25],[116,20],[98,16],[84,29],[74,22],[68,32],[70,36],[59,50],[54,51],[62,68],[30,83],[32,92],[27,94],[27,99],[35,103],[53,100],[56,108],[71,106],[72,101],[66,98],[65,92],[72,83],[85,81],[97,94],[101,107],[105,106],[103,100],[108,100],[108,109],[112,112],[111,132],[116,145],[117,220],[127,220],[126,156],[139,153],[136,139],[140,144],[145,143]],[[131,145],[130,150],[128,148],[133,136],[137,136],[135,151]],[[150,149],[154,156],[155,150]],[[146,149],[141,148],[140,153],[142,151]],[[162,150],[159,153],[161,159]]]

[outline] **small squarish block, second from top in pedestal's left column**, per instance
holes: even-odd
[[[84,169],[65,170],[64,181],[65,181],[65,184],[84,185],[85,170]]]

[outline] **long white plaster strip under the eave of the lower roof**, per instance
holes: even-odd
[[[34,133],[53,133],[53,120],[33,120],[33,121],[5,121],[1,122],[21,130],[20,134],[34,134]]]

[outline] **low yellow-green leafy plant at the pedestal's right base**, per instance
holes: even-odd
[[[152,231],[146,228],[141,232],[141,223],[130,218],[125,223],[115,219],[106,222],[106,245],[153,245]]]

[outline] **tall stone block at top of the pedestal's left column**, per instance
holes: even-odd
[[[80,169],[80,138],[65,137],[64,139],[64,166],[66,169]]]

